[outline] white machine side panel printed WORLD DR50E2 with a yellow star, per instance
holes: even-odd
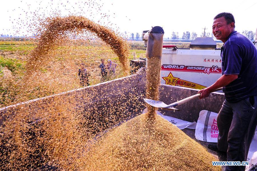
[[[203,89],[221,77],[220,50],[162,49],[162,84]]]

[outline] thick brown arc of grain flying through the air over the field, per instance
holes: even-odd
[[[119,61],[126,75],[129,73],[129,45],[114,31],[101,26],[83,16],[54,17],[46,20],[45,29],[43,29],[37,47],[33,50],[31,58],[27,63],[27,73],[31,73],[42,66],[48,60],[45,54],[58,45],[58,40],[67,34],[67,31],[81,31],[88,29],[97,34],[105,43],[111,46],[111,49],[119,57]]]

